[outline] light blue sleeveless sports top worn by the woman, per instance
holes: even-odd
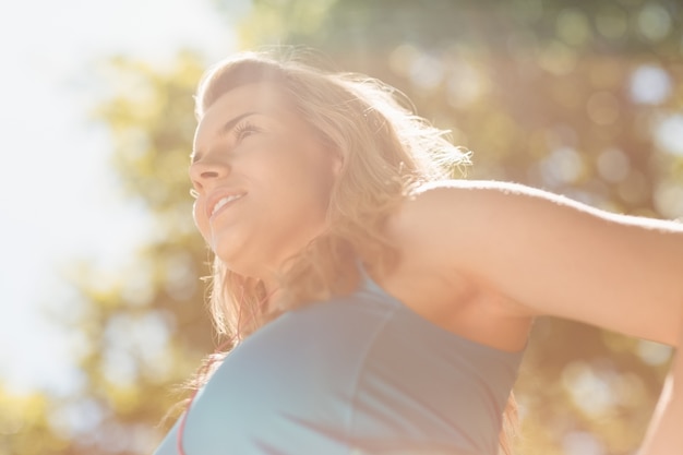
[[[447,332],[366,277],[238,345],[187,410],[187,455],[498,454],[523,351]],[[179,455],[179,421],[155,455]]]

